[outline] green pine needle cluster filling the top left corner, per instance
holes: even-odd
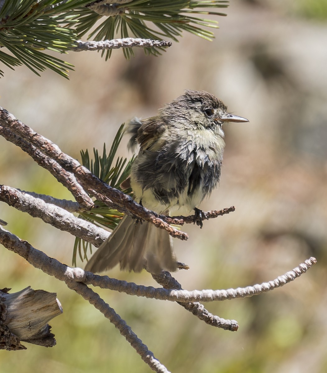
[[[50,56],[43,50],[59,53],[75,45],[74,29],[59,27],[64,17],[46,15],[53,0],[6,0],[0,10],[0,46],[6,47],[15,57],[1,51],[0,61],[13,69],[25,64],[37,75],[50,68],[65,78],[72,65]]]

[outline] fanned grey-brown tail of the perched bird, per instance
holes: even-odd
[[[102,272],[120,263],[121,269],[140,272],[147,265],[151,273],[177,268],[172,237],[148,222],[135,223],[125,215],[110,237],[88,261],[85,270]]]

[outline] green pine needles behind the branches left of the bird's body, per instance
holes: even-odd
[[[95,176],[109,184],[111,187],[119,189],[125,194],[131,195],[132,189],[128,188],[122,190],[120,184],[128,178],[134,157],[129,161],[127,158],[116,158],[117,149],[123,137],[123,130],[124,124],[120,126],[116,136],[114,137],[109,154],[107,154],[106,144],[104,144],[102,156],[99,155],[98,150],[93,149],[94,158],[91,159],[88,150],[81,150],[81,160],[83,166],[87,167],[87,169],[89,169]],[[101,201],[95,200],[94,204],[95,207],[91,211],[83,211],[79,213],[78,217],[97,226],[114,229],[124,214],[117,210],[110,209]],[[76,237],[72,258],[73,266],[76,266],[77,252],[82,261],[87,259],[88,248],[92,253],[92,245],[89,242]]]

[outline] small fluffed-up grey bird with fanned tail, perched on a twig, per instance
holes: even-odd
[[[224,122],[248,122],[227,113],[218,98],[204,91],[185,91],[157,116],[133,119],[127,128],[129,148],[139,144],[130,176],[135,201],[159,214],[188,214],[210,195],[220,178]],[[177,268],[172,237],[148,222],[125,215],[98,248],[85,270],[121,269],[152,273]]]

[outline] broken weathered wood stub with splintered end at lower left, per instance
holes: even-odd
[[[0,290],[0,349],[26,349],[20,341],[53,347],[56,339],[47,322],[63,312],[56,293],[30,286],[13,294],[8,290]]]

